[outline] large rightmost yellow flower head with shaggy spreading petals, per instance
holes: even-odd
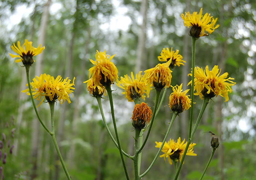
[[[188,75],[192,76],[192,73]],[[205,67],[205,71],[203,70],[203,68],[195,67],[194,89],[196,90],[196,93],[194,94],[199,95],[200,98],[202,98],[203,96],[208,96],[212,98],[215,95],[220,95],[222,97],[224,96],[225,102],[227,102],[229,99],[228,93],[232,92],[230,86],[234,86],[236,84],[235,82],[231,81],[234,78],[229,77],[228,79],[225,79],[227,77],[227,72],[220,75],[217,65],[212,68],[212,71],[209,71],[208,66]],[[190,81],[188,85],[191,83],[192,81]]]

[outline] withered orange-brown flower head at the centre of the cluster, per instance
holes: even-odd
[[[132,125],[143,129],[149,123],[152,111],[145,102],[136,104],[132,112]]]

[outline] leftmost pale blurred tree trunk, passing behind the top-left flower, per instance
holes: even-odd
[[[33,12],[33,17],[32,17],[32,27],[31,27],[31,31],[29,33],[29,36],[28,36],[28,41],[33,41],[33,38],[34,38],[34,34],[35,34],[35,21],[36,21],[36,9],[37,9],[37,4],[35,5],[35,8],[34,8],[34,12]],[[22,79],[21,79],[21,84],[20,84],[20,97],[19,97],[19,109],[18,109],[18,115],[17,115],[17,125],[16,125],[16,136],[17,138],[14,139],[14,149],[13,149],[13,154],[14,156],[17,156],[17,153],[18,153],[18,149],[19,149],[19,141],[20,141],[20,124],[21,124],[21,120],[22,120],[22,115],[23,115],[23,103],[25,102],[26,99],[28,99],[28,96],[27,94],[25,93],[22,93],[21,91],[23,91],[24,89],[26,89],[26,84],[28,83],[27,82],[27,75],[26,75],[26,71],[23,70],[22,71],[22,75],[21,75]]]

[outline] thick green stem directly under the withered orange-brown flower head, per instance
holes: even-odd
[[[134,146],[134,159],[133,159],[133,166],[134,166],[134,179],[139,180],[139,166],[138,166],[138,160],[139,160],[139,136],[140,136],[140,128],[135,128],[135,146]]]

